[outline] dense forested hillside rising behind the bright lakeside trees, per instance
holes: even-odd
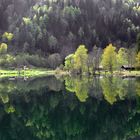
[[[81,44],[139,51],[139,19],[139,0],[1,0],[0,65],[56,68]]]

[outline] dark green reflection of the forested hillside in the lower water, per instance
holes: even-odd
[[[13,136],[14,140],[127,140],[140,133],[139,98],[109,105],[97,99],[80,103],[74,94],[61,91],[50,93],[34,97],[29,94],[28,103],[19,97],[10,102],[15,112],[7,112],[7,105],[1,107],[0,137],[4,140],[13,140]]]

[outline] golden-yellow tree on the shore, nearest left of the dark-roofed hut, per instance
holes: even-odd
[[[116,47],[112,44],[109,44],[102,54],[102,61],[101,64],[103,65],[104,69],[109,70],[111,73],[113,73],[113,70],[115,70],[117,66],[116,62]]]

